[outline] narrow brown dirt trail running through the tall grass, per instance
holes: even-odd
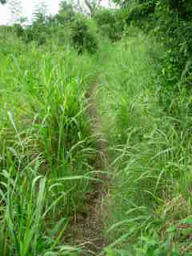
[[[92,133],[97,138],[97,159],[94,164],[94,170],[98,170],[98,177],[103,182],[92,182],[93,192],[86,194],[86,206],[88,208],[86,214],[78,213],[75,216],[74,224],[72,224],[70,233],[76,246],[83,246],[84,250],[81,255],[98,255],[102,248],[106,245],[103,238],[103,199],[108,194],[109,178],[106,174],[99,174],[99,171],[108,170],[109,154],[107,153],[107,142],[101,133],[101,124],[98,114],[97,105],[98,78],[95,79],[93,86],[88,95],[90,103],[89,114],[92,118]]]

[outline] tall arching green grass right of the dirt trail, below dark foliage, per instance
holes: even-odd
[[[186,94],[174,95],[177,115],[166,111],[162,50],[138,32],[110,49],[103,69],[100,112],[114,159],[107,255],[190,255],[190,101],[184,107]]]

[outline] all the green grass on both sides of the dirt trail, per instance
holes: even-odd
[[[6,31],[6,30],[5,30]],[[70,221],[87,210],[97,142],[87,92],[98,78],[109,141],[107,256],[190,255],[189,90],[162,76],[161,45],[131,26],[96,54],[58,38],[0,38],[0,255],[81,255]],[[100,216],[99,216],[100,217]],[[101,230],[102,232],[102,230]]]

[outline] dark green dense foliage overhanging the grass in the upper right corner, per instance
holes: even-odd
[[[187,1],[119,1],[126,23],[152,31],[165,46],[165,76],[173,82],[191,83],[192,3]]]

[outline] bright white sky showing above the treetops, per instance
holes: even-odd
[[[10,2],[21,2],[22,17],[26,17],[28,21],[31,20],[35,6],[39,3],[45,2],[50,14],[56,14],[58,12],[59,2],[61,0],[10,0]],[[103,6],[109,5],[109,0],[102,0]],[[13,20],[11,15],[9,0],[6,5],[0,5],[0,25],[10,24]]]

